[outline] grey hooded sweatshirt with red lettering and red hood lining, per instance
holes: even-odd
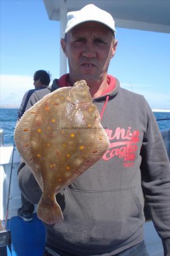
[[[32,94],[27,109],[51,90]],[[107,105],[106,96],[109,95]],[[95,98],[110,147],[103,158],[57,195],[65,221],[46,226],[46,243],[78,256],[109,256],[143,240],[144,199],[170,255],[170,167],[145,98],[120,88]]]

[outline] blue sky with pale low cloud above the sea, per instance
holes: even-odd
[[[20,105],[33,74],[59,77],[59,22],[42,0],[0,0],[0,106]],[[170,34],[117,28],[117,52],[108,73],[142,94],[152,109],[170,109]]]

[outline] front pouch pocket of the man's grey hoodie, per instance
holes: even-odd
[[[142,205],[134,188],[109,191],[66,188],[64,195],[65,234],[62,236],[68,242],[117,246],[142,226]]]

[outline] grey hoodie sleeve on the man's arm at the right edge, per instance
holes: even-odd
[[[146,205],[163,242],[164,256],[170,255],[170,165],[162,135],[147,105],[147,128],[141,148],[142,188]]]

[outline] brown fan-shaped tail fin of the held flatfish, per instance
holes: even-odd
[[[57,204],[55,195],[52,200],[46,198],[44,194],[42,194],[37,206],[37,217],[46,224],[56,224],[63,221],[63,214],[61,208]]]

